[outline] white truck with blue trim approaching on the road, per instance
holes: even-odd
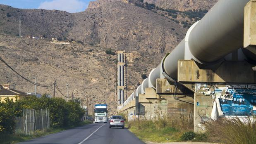
[[[95,113],[95,118],[94,118],[95,123],[98,123],[98,122],[107,123],[108,121],[108,105],[107,104],[95,104],[94,113]]]

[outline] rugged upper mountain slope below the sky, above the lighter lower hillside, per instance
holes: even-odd
[[[74,14],[0,5],[0,33],[18,35],[19,17],[24,36],[74,39],[115,50],[146,51],[146,54],[163,55],[170,51],[187,30],[153,11],[112,2]]]

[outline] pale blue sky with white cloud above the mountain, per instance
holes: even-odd
[[[57,9],[67,12],[84,11],[93,0],[0,0],[0,4],[22,9]]]

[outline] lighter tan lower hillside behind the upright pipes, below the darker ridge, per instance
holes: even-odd
[[[0,34],[0,57],[22,76],[37,83],[50,84],[54,80],[63,94],[84,98],[89,96],[91,111],[93,104],[107,103],[110,113],[115,113],[115,61],[116,55],[106,54],[102,47],[77,42],[55,44],[49,40],[34,40]],[[127,53],[127,92],[131,94],[141,74],[153,69],[153,60],[138,52]],[[11,88],[23,92],[34,92],[34,85],[19,77],[5,64],[0,63],[0,83],[9,83]],[[53,87],[37,87],[37,92],[53,96]],[[56,97],[63,97],[56,90]],[[86,102],[86,99],[84,99]],[[91,113],[90,111],[90,113]]]

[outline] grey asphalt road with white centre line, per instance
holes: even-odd
[[[144,144],[128,129],[109,128],[108,123],[92,123],[19,144]]]

